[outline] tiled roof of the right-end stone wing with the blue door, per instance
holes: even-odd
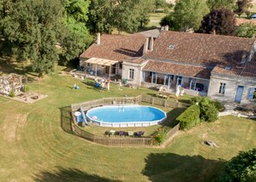
[[[225,66],[215,66],[212,73],[222,74],[227,76],[241,76],[247,78],[256,78],[256,62],[247,62],[242,66],[231,66],[230,70],[225,69]]]

